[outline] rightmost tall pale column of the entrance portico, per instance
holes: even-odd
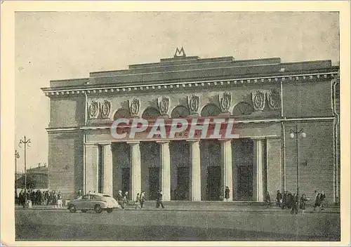
[[[253,140],[253,199],[264,201],[263,194],[263,140]]]

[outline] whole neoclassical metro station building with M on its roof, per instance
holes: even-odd
[[[164,201],[263,201],[277,190],[340,194],[338,70],[330,60],[234,60],[178,52],[160,62],[51,81],[49,188]],[[223,116],[239,138],[116,140],[120,118]],[[306,137],[290,137],[303,129]],[[296,136],[298,138],[296,146]]]

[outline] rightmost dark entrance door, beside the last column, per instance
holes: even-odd
[[[239,166],[238,196],[240,200],[251,200],[253,196],[253,170],[252,166]]]

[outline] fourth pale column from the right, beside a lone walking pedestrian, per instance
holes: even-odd
[[[162,200],[171,201],[171,156],[169,153],[169,142],[157,142],[160,145],[160,187],[162,190]]]

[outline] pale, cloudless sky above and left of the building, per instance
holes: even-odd
[[[200,58],[282,58],[339,62],[338,13],[332,12],[17,12],[15,149],[30,138],[27,168],[48,162],[50,80],[159,62],[183,46]],[[50,164],[48,164],[50,165]]]

